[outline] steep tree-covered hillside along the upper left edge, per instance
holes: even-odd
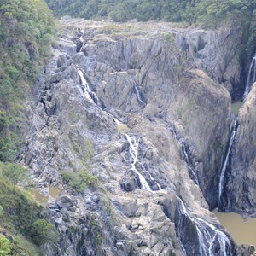
[[[44,0],[0,4],[0,160],[13,161],[19,145],[22,101],[50,55],[54,16]]]

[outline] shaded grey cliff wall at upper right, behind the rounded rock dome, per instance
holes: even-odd
[[[231,26],[218,31],[192,29],[177,34],[189,61],[223,84],[233,98],[241,98],[239,44],[241,28]]]

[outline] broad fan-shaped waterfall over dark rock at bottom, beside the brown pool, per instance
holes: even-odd
[[[186,232],[186,226],[190,223],[195,226],[197,233],[198,244],[199,244],[199,253],[201,256],[231,256],[232,247],[230,244],[229,237],[223,232],[218,230],[213,224],[208,223],[202,218],[192,218],[189,216],[189,213],[186,210],[186,207],[183,204],[183,201],[177,197],[177,211],[178,211],[178,223],[177,223],[177,236],[183,244],[183,250],[185,250],[188,255],[195,255],[195,252],[192,253],[189,251],[189,248],[186,250],[186,241],[188,237],[191,236]],[[191,228],[192,229],[192,228]],[[193,239],[195,237],[193,236]],[[193,244],[195,241],[192,241]]]

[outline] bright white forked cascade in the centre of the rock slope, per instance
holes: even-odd
[[[142,185],[142,189],[152,192],[152,190],[150,189],[150,186],[148,185],[148,182],[146,181],[146,179],[136,169],[136,164],[138,162],[137,154],[138,154],[138,146],[139,146],[140,139],[138,138],[136,140],[136,137],[131,137],[128,134],[125,134],[125,137],[126,137],[128,143],[130,144],[129,152],[130,152],[130,155],[131,155],[131,169],[134,172],[136,172],[136,174],[138,175],[138,177],[140,179],[140,182],[141,182],[141,185]]]

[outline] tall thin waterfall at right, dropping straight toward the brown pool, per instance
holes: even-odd
[[[227,169],[228,162],[230,160],[230,151],[231,151],[232,145],[233,145],[235,137],[236,137],[237,125],[238,124],[237,124],[237,118],[236,118],[235,122],[234,122],[234,125],[233,125],[233,128],[232,128],[231,135],[230,135],[229,148],[227,150],[227,154],[226,154],[226,157],[225,157],[225,160],[224,160],[224,164],[223,164],[223,166],[221,168],[221,172],[220,172],[219,184],[218,184],[218,205],[219,205],[221,195],[222,195],[222,192],[223,192],[223,189],[224,189],[225,172],[226,172],[226,169]]]

